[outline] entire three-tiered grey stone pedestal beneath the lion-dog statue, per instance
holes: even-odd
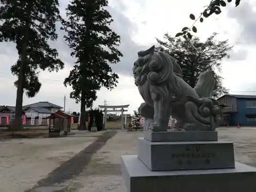
[[[128,192],[256,191],[256,168],[235,162],[217,132],[145,132],[122,175]]]

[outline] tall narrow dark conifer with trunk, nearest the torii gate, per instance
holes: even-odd
[[[111,90],[118,82],[109,64],[122,57],[117,49],[120,36],[110,28],[113,19],[106,6],[106,0],[72,0],[67,8],[68,20],[62,20],[65,41],[76,58],[64,84],[73,88],[70,97],[81,102],[81,130],[86,129],[84,113],[92,107],[97,91],[101,87]]]

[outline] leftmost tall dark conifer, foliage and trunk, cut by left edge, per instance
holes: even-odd
[[[49,40],[56,40],[55,24],[59,20],[58,0],[2,0],[0,7],[0,41],[16,44],[18,60],[11,67],[17,87],[15,125],[22,127],[23,93],[34,97],[39,92],[39,70],[58,71],[63,62]]]

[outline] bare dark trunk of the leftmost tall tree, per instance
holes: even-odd
[[[16,93],[16,105],[15,105],[15,119],[12,123],[12,131],[18,131],[23,129],[22,116],[23,116],[23,84],[24,84],[24,68],[27,63],[27,44],[28,44],[28,33],[22,41],[22,55],[20,59],[18,81],[17,81],[17,93]]]

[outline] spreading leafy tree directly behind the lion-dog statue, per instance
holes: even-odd
[[[182,78],[191,86],[195,87],[198,76],[206,70],[221,71],[221,61],[229,58],[228,52],[232,49],[228,45],[228,40],[217,41],[213,33],[201,42],[198,37],[191,39],[175,38],[168,34],[164,35],[165,41],[157,39],[160,44],[159,49],[166,51],[170,56],[176,58],[182,69]],[[228,90],[222,85],[222,77],[215,74],[217,81],[214,97],[227,94]]]

